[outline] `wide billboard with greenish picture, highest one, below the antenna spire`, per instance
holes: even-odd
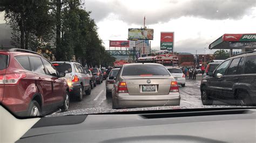
[[[154,30],[146,28],[129,28],[128,39],[153,40]]]

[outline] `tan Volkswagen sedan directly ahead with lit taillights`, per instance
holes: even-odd
[[[178,83],[163,65],[127,63],[120,68],[112,90],[114,109],[179,104]]]

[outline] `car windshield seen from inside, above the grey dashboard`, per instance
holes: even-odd
[[[2,0],[0,104],[22,117],[255,106],[255,16],[255,0]]]

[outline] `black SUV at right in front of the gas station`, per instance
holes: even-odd
[[[256,51],[228,58],[206,74],[200,85],[204,105],[213,105],[213,99],[232,105],[255,105]]]

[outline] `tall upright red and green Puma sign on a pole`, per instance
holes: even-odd
[[[174,32],[161,32],[160,49],[173,52]]]

